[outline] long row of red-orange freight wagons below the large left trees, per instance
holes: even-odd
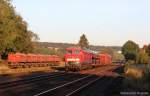
[[[60,61],[61,59],[56,55],[8,54],[8,65],[11,68],[50,66],[57,65]]]

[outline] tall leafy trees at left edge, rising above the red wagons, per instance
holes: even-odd
[[[38,36],[28,30],[27,22],[16,13],[10,0],[0,0],[0,54],[33,51]]]

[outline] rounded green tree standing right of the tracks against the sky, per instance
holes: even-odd
[[[122,53],[126,60],[138,61],[139,46],[133,41],[127,41],[122,47]]]

